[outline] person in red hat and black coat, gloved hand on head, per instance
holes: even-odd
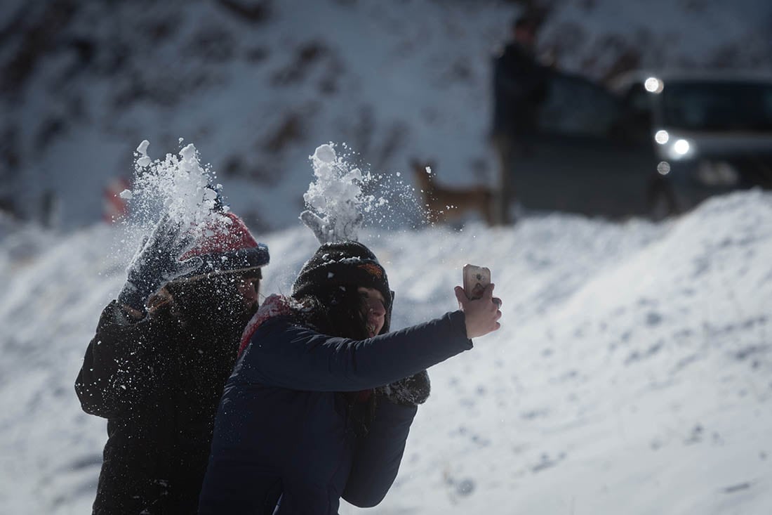
[[[222,213],[198,238],[168,218],[103,310],[75,390],[107,418],[93,513],[196,513],[215,411],[257,309],[268,248]]]

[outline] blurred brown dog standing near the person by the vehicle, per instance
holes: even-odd
[[[424,207],[428,220],[432,223],[447,223],[462,217],[469,211],[477,211],[488,223],[493,225],[493,191],[486,186],[469,188],[449,188],[440,186],[432,162],[411,161],[413,175],[421,188]]]

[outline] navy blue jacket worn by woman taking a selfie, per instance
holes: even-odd
[[[397,476],[417,408],[378,397],[367,431],[357,392],[472,348],[463,312],[361,341],[276,316],[228,380],[199,513],[337,513],[380,503]],[[353,396],[356,397],[356,396]]]

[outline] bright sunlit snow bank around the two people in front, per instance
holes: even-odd
[[[0,513],[89,511],[105,425],[73,381],[124,280],[121,237],[0,220]],[[315,240],[260,238],[263,293],[287,292]],[[430,370],[397,482],[367,513],[769,513],[770,194],[660,224],[550,215],[361,239],[397,292],[394,327],[455,309],[466,262],[504,301],[498,333]]]

